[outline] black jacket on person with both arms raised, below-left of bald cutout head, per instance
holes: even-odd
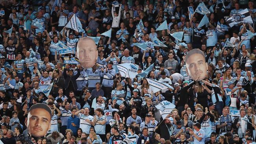
[[[77,90],[77,84],[76,84],[76,79],[80,76],[80,69],[77,68],[77,73],[76,75],[73,75],[73,76],[68,76],[67,75],[67,69],[64,68],[63,70],[63,77],[65,79],[65,89],[67,89],[69,87],[69,83],[71,82],[73,87],[74,87],[74,90]]]

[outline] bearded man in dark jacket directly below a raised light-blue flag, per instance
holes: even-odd
[[[160,122],[155,129],[155,132],[160,134],[161,138],[164,138],[165,140],[169,140],[173,136],[173,126],[171,124],[171,121],[169,120],[170,116],[171,115],[168,114],[163,122]]]

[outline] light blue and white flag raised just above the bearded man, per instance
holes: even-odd
[[[159,113],[161,114],[162,118],[165,119],[166,116],[173,111],[175,105],[167,100],[162,101],[158,105],[156,105],[156,109],[158,109]]]

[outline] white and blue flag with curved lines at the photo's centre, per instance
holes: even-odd
[[[139,66],[133,63],[122,63],[117,65],[117,68],[122,77],[133,79],[136,77]]]

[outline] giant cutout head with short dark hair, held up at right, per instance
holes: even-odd
[[[195,81],[206,78],[208,64],[201,50],[193,49],[186,55],[186,72]]]

